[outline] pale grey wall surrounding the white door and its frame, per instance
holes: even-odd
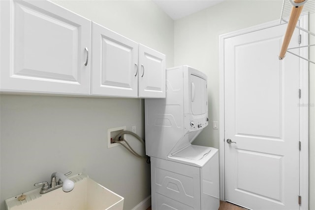
[[[209,121],[219,121],[219,35],[278,20],[282,0],[227,0],[175,21],[174,64],[183,63],[208,75]],[[315,14],[310,16],[310,31],[315,32]],[[315,43],[315,38],[310,42]],[[315,58],[314,47],[310,58]],[[315,65],[310,64],[309,150],[310,210],[315,210]],[[219,148],[219,130],[212,124],[194,141]]]

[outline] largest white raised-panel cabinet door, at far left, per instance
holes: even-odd
[[[1,91],[90,94],[91,21],[50,1],[0,9]]]

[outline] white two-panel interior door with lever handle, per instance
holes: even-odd
[[[285,29],[224,42],[225,200],[253,210],[299,209],[299,61],[278,60]]]

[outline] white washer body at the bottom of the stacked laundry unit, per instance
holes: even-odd
[[[216,148],[199,147],[211,150],[202,157],[206,162],[202,168],[151,158],[153,210],[219,209],[219,152]]]

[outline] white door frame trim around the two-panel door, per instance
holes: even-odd
[[[300,27],[308,30],[309,15],[300,16]],[[219,36],[219,70],[220,70],[220,87],[219,87],[219,107],[220,107],[220,125],[219,125],[219,157],[220,157],[220,200],[225,200],[225,180],[224,180],[224,167],[225,167],[225,154],[224,154],[224,131],[225,131],[225,116],[224,116],[224,39],[230,38],[237,35],[243,35],[254,31],[267,29],[270,27],[280,25],[280,20],[270,21],[250,28],[241,29],[235,32],[230,32]],[[308,34],[302,33],[301,46],[308,44]],[[308,49],[306,47],[300,48],[300,55],[304,58],[308,58]],[[285,59],[285,58],[284,58]],[[300,99],[300,196],[301,206],[300,210],[308,210],[309,208],[309,63],[303,59],[299,60],[300,72],[299,72],[299,87],[301,89]],[[298,145],[297,145],[298,146]],[[298,198],[296,198],[298,202]]]

